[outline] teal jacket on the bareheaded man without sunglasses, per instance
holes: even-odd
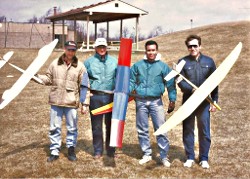
[[[167,88],[169,100],[176,101],[174,79],[168,82],[164,80],[170,71],[168,65],[161,60],[140,60],[131,68],[129,90],[135,90],[136,94],[142,97],[160,97]]]

